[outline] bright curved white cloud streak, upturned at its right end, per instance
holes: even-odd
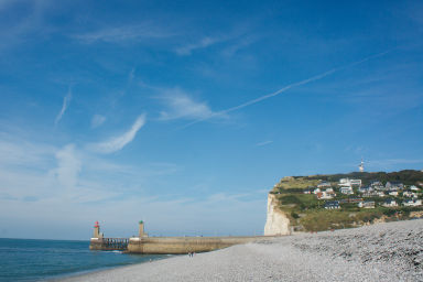
[[[137,135],[137,132],[145,124],[145,115],[137,118],[132,127],[121,135],[112,137],[109,140],[96,144],[90,144],[89,148],[99,153],[112,153],[121,150],[130,143]]]

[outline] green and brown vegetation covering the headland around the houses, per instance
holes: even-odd
[[[350,203],[349,199],[361,197],[358,187],[354,188],[352,195],[339,193],[338,183],[341,178],[361,180],[361,186],[370,185],[371,182],[379,181],[383,185],[388,182],[400,182],[406,187],[419,186],[416,194],[423,198],[423,172],[422,171],[400,171],[400,172],[354,172],[348,174],[312,175],[312,176],[288,176],[283,177],[270,192],[279,200],[279,208],[290,218],[291,226],[297,231],[321,231],[328,229],[339,229],[372,224],[375,221],[389,221],[408,219],[416,214],[422,215],[423,206],[394,206],[386,207],[383,202],[391,196],[370,196],[361,198],[375,203],[375,208],[360,208],[357,202]],[[329,185],[336,193],[336,200],[340,204],[339,209],[325,209],[327,200],[318,199],[315,194],[304,194],[306,189],[313,191],[323,182]],[[405,199],[403,192],[394,197],[401,202]],[[402,203],[402,202],[401,202]],[[417,213],[416,213],[417,212]]]

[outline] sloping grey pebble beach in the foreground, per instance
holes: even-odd
[[[59,281],[423,281],[423,219],[262,239]]]

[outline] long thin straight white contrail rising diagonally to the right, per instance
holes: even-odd
[[[208,119],[214,118],[214,117],[223,116],[223,115],[226,115],[226,113],[228,113],[228,112],[231,112],[231,111],[235,111],[235,110],[242,109],[242,108],[245,108],[245,107],[248,107],[248,106],[250,106],[250,105],[257,104],[257,102],[259,102],[259,101],[267,100],[267,99],[272,98],[272,97],[274,97],[274,96],[278,96],[278,95],[280,95],[280,94],[284,93],[284,91],[288,91],[288,90],[291,89],[291,88],[294,88],[294,87],[297,87],[297,86],[302,86],[302,85],[305,85],[305,84],[310,84],[310,83],[319,80],[319,79],[322,79],[322,78],[324,78],[324,77],[326,77],[326,76],[329,76],[329,75],[332,75],[332,74],[334,74],[334,73],[337,73],[337,72],[340,72],[340,70],[344,70],[344,69],[354,67],[354,66],[359,65],[359,64],[362,64],[362,63],[365,63],[365,62],[367,62],[367,61],[369,61],[369,59],[372,59],[372,58],[376,58],[376,57],[384,56],[386,54],[392,52],[393,50],[394,50],[394,48],[389,50],[389,51],[384,51],[384,52],[381,52],[381,53],[378,53],[378,54],[375,54],[375,55],[365,57],[365,58],[362,58],[362,59],[360,59],[360,61],[350,63],[350,64],[348,64],[348,65],[340,66],[340,67],[336,67],[336,68],[333,68],[333,69],[327,70],[327,72],[325,72],[325,73],[322,73],[322,74],[319,74],[319,75],[312,76],[312,77],[310,77],[310,78],[307,78],[307,79],[304,79],[304,80],[301,80],[301,82],[297,82],[297,83],[290,84],[290,85],[288,85],[288,86],[281,88],[281,89],[274,91],[274,93],[271,93],[271,94],[261,96],[261,97],[259,97],[259,98],[256,98],[256,99],[252,99],[252,100],[249,100],[249,101],[246,101],[246,102],[243,102],[243,104],[241,104],[241,105],[238,105],[238,106],[228,108],[228,109],[226,109],[226,110],[221,110],[221,111],[214,112],[213,115],[210,115],[210,116],[208,116],[208,117],[206,117],[206,118],[202,118],[202,119],[194,120],[194,121],[192,121],[192,122],[185,124],[184,127],[182,127],[182,129],[187,128],[187,127],[191,127],[191,126],[193,126],[193,124],[195,124],[195,123],[198,123],[198,122],[208,120]]]

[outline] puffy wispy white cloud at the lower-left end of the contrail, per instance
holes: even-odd
[[[166,108],[160,112],[161,120],[208,119],[215,115],[207,102],[194,100],[180,88],[162,90],[159,99]]]

